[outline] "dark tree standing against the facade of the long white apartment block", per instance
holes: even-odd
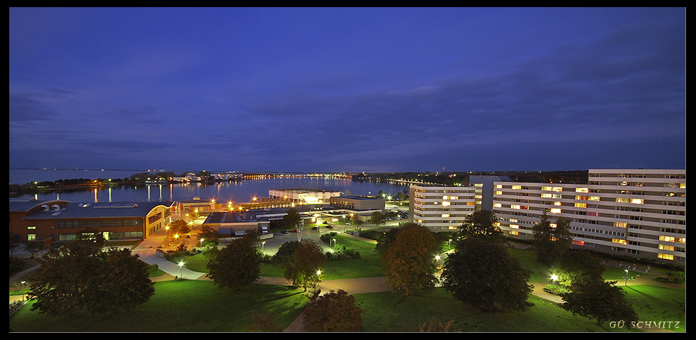
[[[573,242],[573,234],[569,227],[569,219],[559,217],[556,223],[551,223],[546,212],[542,215],[541,221],[532,227],[532,245],[538,261],[551,265],[568,251]]]

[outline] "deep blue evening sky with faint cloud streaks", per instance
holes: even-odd
[[[10,8],[10,168],[685,168],[684,8]]]

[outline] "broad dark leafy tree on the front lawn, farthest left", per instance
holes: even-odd
[[[92,242],[71,241],[38,259],[32,278],[31,310],[69,317],[82,309],[93,314],[136,307],[154,294],[147,266],[126,250],[102,252]]]

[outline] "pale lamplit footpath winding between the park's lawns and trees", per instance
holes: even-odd
[[[356,236],[352,236],[350,234],[344,234],[344,236],[352,237],[352,238],[358,238],[363,241],[368,241],[368,242],[373,242],[375,243],[376,241],[370,240],[367,238],[359,238]],[[186,280],[210,280],[205,273],[198,273],[193,270],[189,270],[184,267],[179,267],[175,263],[172,263],[170,261],[165,260],[164,258],[161,258],[157,256],[156,254],[156,248],[161,244],[161,239],[157,238],[151,238],[149,240],[143,241],[139,246],[137,246],[132,253],[137,254],[139,258],[144,261],[145,263],[148,264],[156,264],[160,270],[164,271],[166,274],[161,275],[155,278],[151,278],[154,282],[159,282],[159,281],[166,281],[166,280],[176,280],[176,278],[182,278]],[[513,246],[513,245],[508,245],[508,246]],[[444,255],[444,254],[443,254]],[[443,260],[440,260],[443,261]],[[33,270],[36,270],[38,267],[33,267],[29,268],[28,270],[24,270],[21,273],[18,273],[17,275],[14,275],[12,278],[10,278],[10,284],[17,282],[18,280],[21,280],[21,278],[26,277],[29,275]],[[653,273],[657,273],[653,270],[651,270]],[[262,277],[259,278],[255,283],[258,284],[267,284],[267,285],[290,285],[290,283],[285,280],[285,278],[269,278],[269,277]],[[544,291],[544,286],[547,283],[530,283],[531,285],[534,286],[534,289],[532,290],[532,295],[536,295],[538,297],[542,297],[546,300],[550,300],[552,302],[557,302],[557,303],[562,303],[562,299],[557,296],[557,295],[552,295],[550,293],[547,293]],[[617,283],[619,285],[620,283]],[[665,284],[665,283],[655,283],[651,277],[648,276],[636,276],[635,279],[628,280],[626,282],[627,285],[661,285],[663,287],[670,287],[670,288],[682,288],[684,285],[671,285],[671,284]],[[324,280],[321,283],[319,283],[319,288],[321,289],[321,292],[329,292],[331,290],[345,290],[348,292],[348,294],[360,294],[360,293],[366,293],[366,292],[385,292],[389,291],[390,288],[387,286],[386,279],[384,277],[378,277],[378,278],[355,278],[355,279],[344,279],[344,280]],[[10,297],[10,303],[17,301],[17,300],[22,300],[23,296],[14,296]],[[295,319],[292,324],[290,324],[287,329],[285,329],[285,332],[302,332],[306,331],[304,329],[304,324],[302,322],[302,318],[304,317],[304,314],[300,314],[300,316]],[[653,331],[653,332],[659,332],[659,331],[669,331],[665,329],[645,329],[646,331]]]

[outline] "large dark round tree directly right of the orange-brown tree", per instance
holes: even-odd
[[[441,280],[456,300],[484,312],[525,310],[531,271],[510,256],[503,244],[466,238],[447,258]]]

